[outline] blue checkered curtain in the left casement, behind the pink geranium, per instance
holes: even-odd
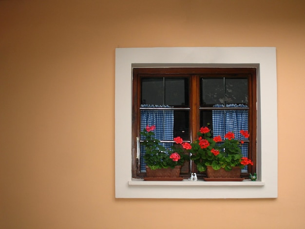
[[[148,105],[142,104],[141,107],[144,108],[170,108],[168,105]],[[154,132],[154,137],[159,140],[173,140],[173,110],[141,110],[141,131],[143,131],[147,125],[155,125],[156,129]],[[141,136],[141,140],[144,137]],[[162,143],[165,148],[170,148],[172,143]],[[145,162],[143,155],[145,154],[145,149],[143,146],[140,147],[140,165],[141,172],[146,172]]]

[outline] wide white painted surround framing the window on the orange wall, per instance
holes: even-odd
[[[143,181],[132,178],[134,67],[257,68],[257,181]],[[277,198],[275,47],[117,48],[115,50],[116,198]]]

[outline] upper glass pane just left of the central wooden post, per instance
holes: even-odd
[[[165,104],[189,106],[188,78],[165,78]]]

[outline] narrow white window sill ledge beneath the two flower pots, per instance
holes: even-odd
[[[128,181],[130,186],[264,186],[263,181],[144,181],[143,179],[132,179]]]

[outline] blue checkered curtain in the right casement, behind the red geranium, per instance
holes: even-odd
[[[214,107],[225,107],[223,104],[216,104]],[[227,104],[228,108],[235,107],[248,107],[244,104]],[[248,110],[213,110],[213,136],[220,135],[224,138],[228,132],[233,132],[237,140],[246,140],[246,138],[240,134],[240,130],[248,131]],[[248,144],[242,145],[243,156],[248,156]],[[247,171],[245,167],[243,172]]]

